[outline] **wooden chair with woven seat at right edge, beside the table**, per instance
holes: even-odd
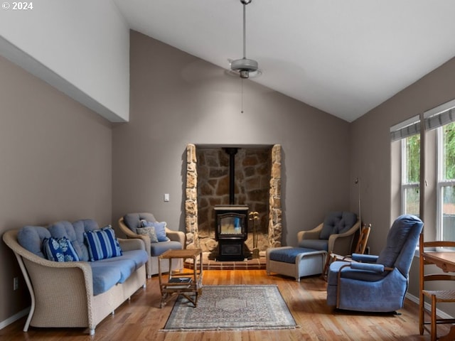
[[[455,303],[455,290],[437,290],[441,288],[441,283],[446,282],[444,288],[455,287],[455,274],[444,273],[434,274],[426,273],[425,269],[429,267],[428,261],[425,261],[422,253],[428,250],[438,251],[439,248],[448,250],[455,248],[455,242],[424,242],[423,233],[419,238],[419,269],[420,269],[420,298],[419,298],[419,332],[423,335],[424,330],[430,334],[430,340],[437,340],[437,325],[455,323],[455,318],[440,318],[436,314],[438,303]],[[454,249],[455,250],[455,249]],[[433,265],[434,266],[434,265]],[[451,281],[451,282],[450,282]],[[433,285],[429,282],[434,283]],[[439,282],[439,287],[436,285]],[[425,298],[429,301],[429,308],[425,305]],[[429,320],[428,320],[429,317]],[[430,328],[428,328],[428,325]],[[451,339],[453,340],[453,339]]]

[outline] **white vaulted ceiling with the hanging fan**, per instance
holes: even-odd
[[[229,68],[240,0],[114,0],[130,28]],[[353,121],[455,56],[454,0],[252,0],[252,79]],[[226,76],[228,77],[228,76]]]

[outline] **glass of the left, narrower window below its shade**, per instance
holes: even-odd
[[[402,139],[402,214],[419,216],[420,134]]]

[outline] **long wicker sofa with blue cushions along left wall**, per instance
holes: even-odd
[[[90,335],[94,335],[98,323],[145,287],[148,256],[141,239],[116,239],[121,255],[90,261],[90,247],[84,242],[87,231],[102,229],[93,220],[78,220],[4,233],[4,242],[14,251],[31,295],[31,310],[23,331],[30,325],[89,328]],[[48,260],[43,241],[50,237],[70,240],[80,260]]]

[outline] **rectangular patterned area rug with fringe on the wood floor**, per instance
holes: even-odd
[[[204,286],[196,308],[178,296],[164,331],[290,328],[297,325],[277,286]]]

